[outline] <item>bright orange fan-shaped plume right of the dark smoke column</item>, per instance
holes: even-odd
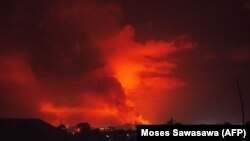
[[[108,68],[121,83],[132,105],[140,104],[143,108],[135,106],[140,113],[153,114],[155,108],[159,107],[146,104],[148,99],[144,95],[157,94],[160,102],[168,97],[166,91],[185,86],[184,82],[171,76],[178,66],[168,56],[193,49],[195,44],[185,36],[171,42],[149,40],[145,43],[135,41],[133,36],[133,27],[125,26],[118,33],[102,40],[99,46],[103,47]]]

